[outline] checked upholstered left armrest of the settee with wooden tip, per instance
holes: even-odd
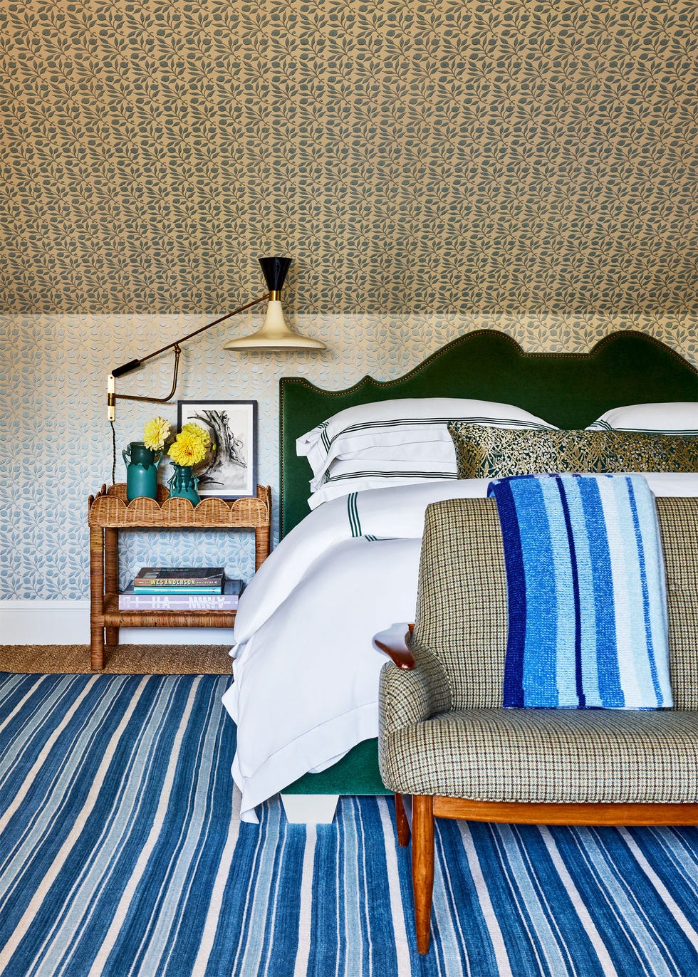
[[[414,641],[412,627],[394,624],[373,638],[373,647],[391,658],[380,671],[381,735],[451,708],[444,667],[433,652]]]

